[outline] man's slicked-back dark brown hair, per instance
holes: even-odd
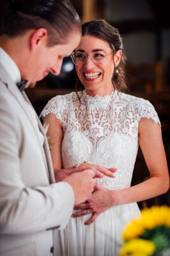
[[[14,37],[46,28],[52,46],[66,42],[71,31],[81,31],[80,18],[68,0],[2,0],[1,12],[0,35]]]

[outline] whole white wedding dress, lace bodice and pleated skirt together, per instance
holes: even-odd
[[[62,164],[69,168],[83,161],[106,168],[116,167],[115,178],[97,182],[115,190],[131,186],[138,152],[138,123],[141,118],[159,118],[148,100],[125,93],[90,97],[83,91],[81,105],[76,93],[58,95],[48,102],[41,115],[55,114],[62,121]],[[122,244],[122,230],[138,216],[136,203],[117,205],[103,212],[91,225],[91,214],[71,218],[59,230],[55,243],[57,256],[116,256]]]

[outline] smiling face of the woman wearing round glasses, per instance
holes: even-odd
[[[85,55],[87,59],[83,63]],[[113,90],[113,51],[108,42],[95,36],[82,36],[76,47],[76,59],[80,64],[75,65],[76,73],[87,92],[101,94]]]

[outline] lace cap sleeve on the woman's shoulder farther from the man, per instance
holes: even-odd
[[[139,111],[139,120],[141,118],[151,118],[156,124],[160,124],[159,116],[157,115],[157,112],[155,111],[155,108],[148,100],[143,100],[143,104],[141,106],[141,111]]]

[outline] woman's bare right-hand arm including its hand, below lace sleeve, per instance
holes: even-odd
[[[97,191],[92,194],[88,203],[77,207],[77,209],[88,209],[89,212],[94,213],[86,224],[94,222],[101,212],[114,205],[139,202],[167,192],[169,189],[169,174],[160,125],[155,124],[151,119],[142,118],[139,122],[139,145],[145,157],[150,178],[136,186],[115,191],[97,185]],[[85,214],[87,214],[87,210],[73,216]]]

